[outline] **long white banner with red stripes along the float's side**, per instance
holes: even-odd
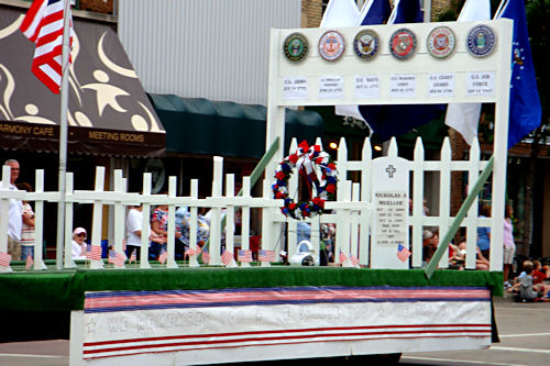
[[[211,364],[491,344],[491,292],[484,287],[87,292],[81,317],[86,365]]]

